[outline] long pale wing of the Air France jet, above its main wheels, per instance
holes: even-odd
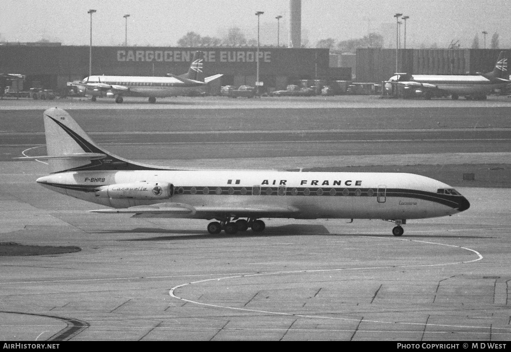
[[[90,210],[89,212],[134,214],[133,217],[199,217],[209,219],[224,216],[261,217],[275,214],[293,214],[297,213],[298,209],[272,205],[194,207],[183,203],[158,203],[123,209]]]

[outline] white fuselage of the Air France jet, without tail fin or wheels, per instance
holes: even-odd
[[[296,209],[292,214],[271,216],[289,218],[427,218],[455,214],[464,200],[445,183],[408,173],[155,169],[61,172],[37,182],[60,193],[113,208],[164,202],[184,203],[198,210],[272,205]],[[95,192],[102,186],[140,182],[172,184],[173,195],[167,200],[142,200],[99,197]],[[443,190],[448,190],[447,194]]]

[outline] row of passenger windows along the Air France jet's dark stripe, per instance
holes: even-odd
[[[214,192],[215,194],[222,194],[224,190],[222,189],[222,187],[217,187],[214,189]],[[196,187],[192,187],[190,188],[190,194],[197,194],[198,190]],[[211,190],[209,187],[204,187],[202,188],[202,193],[203,194],[210,194]],[[252,187],[252,190],[251,190],[251,194],[252,195],[260,195],[260,194],[267,194],[267,195],[271,195],[271,194],[274,194],[275,190],[272,189],[271,187],[267,187],[266,189],[264,188],[261,188],[261,187]],[[177,189],[177,193],[178,194],[184,194],[184,188],[183,187],[179,187]],[[228,194],[235,194],[236,193],[236,190],[233,188],[233,187],[229,187],[227,189],[227,193]],[[248,194],[249,191],[245,188],[245,187],[242,187],[240,190],[239,190],[239,194],[242,194],[242,195],[245,195],[245,194]],[[335,188],[330,188],[330,189],[322,189],[322,188],[318,188],[317,190],[315,191],[311,191],[309,188],[305,188],[303,190],[300,190],[298,191],[298,189],[296,188],[293,188],[291,190],[288,190],[286,191],[286,188],[278,188],[276,193],[278,195],[285,195],[285,194],[288,194],[288,195],[298,195],[299,193],[300,194],[303,194],[303,195],[310,195],[310,194],[316,194],[316,195],[323,195],[323,194],[330,194],[330,195],[336,195],[337,193],[340,193],[342,195],[350,195],[350,190],[347,189],[347,188],[344,188],[342,191],[337,191]],[[355,193],[355,195],[362,195],[362,190],[360,188],[357,188],[355,190],[355,192],[352,191],[352,193]],[[371,188],[369,188],[367,190],[367,192],[365,192],[368,196],[373,196],[375,195],[375,191]]]

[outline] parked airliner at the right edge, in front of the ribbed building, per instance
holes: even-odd
[[[385,83],[385,90],[393,91],[400,86],[404,89],[404,94],[422,95],[426,99],[435,96],[451,96],[453,100],[457,100],[460,96],[464,96],[468,100],[485,100],[487,94],[509,83],[511,80],[507,71],[507,58],[502,51],[492,72],[483,75],[396,73]]]

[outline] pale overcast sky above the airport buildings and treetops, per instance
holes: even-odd
[[[97,10],[92,15],[92,40],[98,46],[124,42],[124,14],[130,14],[128,45],[176,46],[187,32],[222,37],[235,26],[247,39],[255,38],[255,11],[264,11],[262,43],[276,43],[277,15],[283,16],[281,44],[288,40],[289,0],[2,0],[0,39],[88,45],[89,9]],[[410,16],[407,48],[433,43],[447,48],[453,40],[470,48],[476,35],[482,48],[482,31],[489,33],[487,47],[494,33],[500,36],[501,48],[511,43],[511,0],[303,0],[301,10],[302,39],[308,47],[320,39],[361,38],[382,28],[390,37],[397,12]],[[389,40],[387,46],[392,44]]]

